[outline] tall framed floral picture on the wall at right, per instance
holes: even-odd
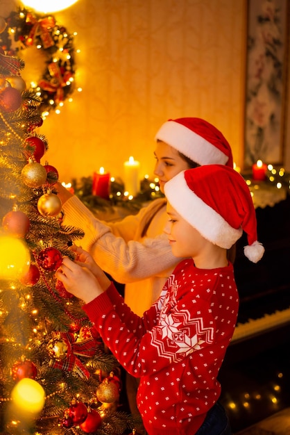
[[[244,167],[283,163],[289,0],[247,0]]]

